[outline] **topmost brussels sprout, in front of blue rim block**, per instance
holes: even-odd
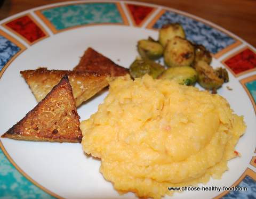
[[[159,42],[162,46],[166,46],[168,40],[174,38],[175,36],[179,36],[181,38],[186,38],[185,32],[182,26],[179,23],[170,23],[164,25],[159,30]]]

